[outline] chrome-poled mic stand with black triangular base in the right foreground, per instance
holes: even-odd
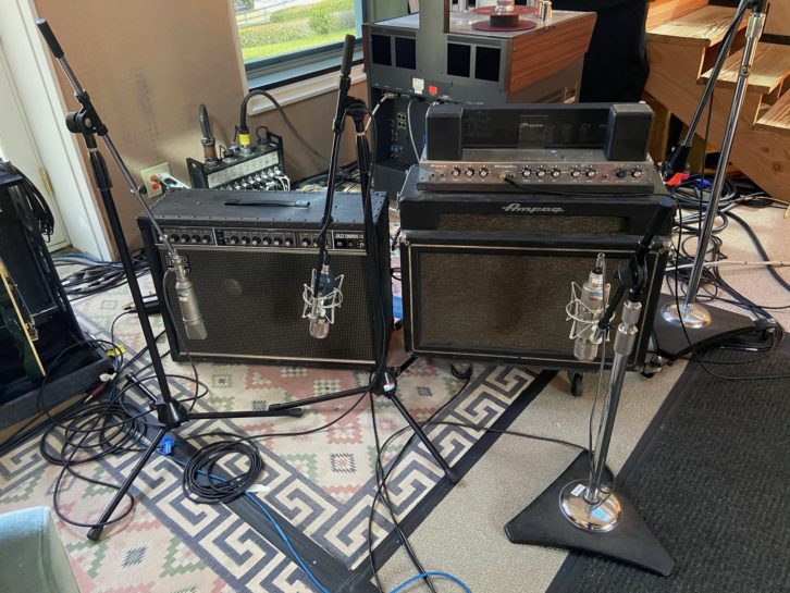
[[[665,208],[671,209],[670,203]],[[675,566],[662,544],[622,494],[603,485],[612,480],[606,471],[606,457],[617,417],[622,383],[639,332],[642,312],[642,291],[647,280],[647,254],[653,243],[661,210],[650,231],[639,242],[629,263],[617,269],[620,282],[614,298],[598,321],[596,337],[612,326],[612,320],[622,298],[621,322],[617,328],[614,357],[606,399],[602,410],[603,425],[597,435],[594,455],[584,452],[532,504],[505,526],[509,540],[520,544],[567,547],[632,564],[662,576]],[[591,457],[592,456],[592,457]],[[559,503],[559,504],[557,504]]]

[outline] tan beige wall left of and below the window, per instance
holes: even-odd
[[[140,169],[168,161],[188,182],[186,157],[200,158],[198,106],[206,103],[218,143],[227,144],[246,92],[240,57],[227,2],[222,0],[33,0],[39,16],[58,36],[72,69],[90,92],[126,164],[139,181]],[[71,86],[59,72],[70,108]],[[354,92],[365,97],[363,85]],[[335,95],[293,103],[286,110],[304,136],[328,153]],[[287,173],[300,178],[325,165],[316,162],[274,112],[249,118],[284,138]],[[344,160],[349,160],[346,138]],[[83,149],[84,152],[84,149]],[[84,157],[84,155],[83,155]],[[106,155],[109,161],[109,156]],[[109,163],[114,197],[127,243],[141,240],[140,211],[123,177]],[[92,185],[92,181],[91,181]],[[98,198],[97,198],[98,200]]]

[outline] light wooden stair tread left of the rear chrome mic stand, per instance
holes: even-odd
[[[724,39],[736,11],[727,7],[705,7],[647,30],[647,40],[707,48]],[[739,30],[745,28],[742,18]]]

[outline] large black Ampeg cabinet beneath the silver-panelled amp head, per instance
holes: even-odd
[[[400,198],[406,348],[417,355],[595,370],[573,358],[565,306],[598,254],[607,282],[668,197],[430,194],[409,174]],[[668,201],[667,201],[668,200]],[[662,230],[668,234],[671,209]],[[649,256],[639,339],[644,363],[667,254]],[[619,311],[618,311],[619,319]],[[610,361],[610,348],[607,359]]]

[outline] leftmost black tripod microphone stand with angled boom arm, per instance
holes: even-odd
[[[173,394],[171,393],[170,386],[168,384],[168,375],[165,374],[164,368],[162,366],[162,357],[159,354],[157,341],[153,336],[153,331],[151,330],[151,324],[148,320],[148,316],[145,312],[146,307],[143,299],[143,293],[140,292],[139,283],[137,282],[137,273],[135,271],[132,256],[126,245],[126,238],[123,233],[121,220],[118,215],[115,201],[112,197],[112,182],[110,180],[110,173],[107,170],[107,163],[104,161],[104,158],[102,157],[101,152],[99,152],[96,136],[99,136],[103,140],[106,148],[110,152],[110,156],[112,157],[113,161],[121,170],[121,173],[126,180],[126,183],[128,184],[132,194],[137,196],[137,198],[140,200],[143,209],[148,214],[152,226],[157,231],[174,264],[181,261],[181,256],[175,251],[172,245],[168,243],[166,237],[159,228],[157,221],[151,214],[150,209],[148,208],[148,205],[145,202],[145,199],[143,197],[143,195],[145,194],[145,188],[139,188],[135,184],[132,173],[129,172],[126,164],[123,162],[120,152],[118,151],[115,145],[110,138],[107,125],[104,125],[104,123],[99,118],[99,113],[97,112],[96,107],[90,101],[90,97],[88,96],[87,91],[82,87],[82,85],[77,81],[77,77],[74,75],[74,72],[72,71],[69,62],[63,54],[63,49],[61,48],[58,39],[52,33],[49,23],[47,23],[47,21],[45,21],[44,18],[39,18],[38,21],[36,21],[36,25],[38,26],[38,29],[47,41],[47,45],[52,52],[52,55],[60,62],[60,65],[62,66],[66,78],[69,78],[69,82],[74,88],[74,97],[77,99],[77,101],[79,101],[79,104],[82,106],[79,111],[72,112],[66,115],[66,127],[72,134],[82,135],[83,139],[85,140],[85,146],[88,149],[90,169],[94,175],[94,180],[96,182],[96,187],[98,188],[99,195],[101,196],[101,202],[104,207],[107,219],[110,223],[110,231],[112,232],[113,242],[115,244],[115,247],[118,248],[119,255],[121,256],[121,263],[123,265],[124,273],[126,274],[128,288],[132,293],[132,300],[135,304],[137,319],[139,320],[140,329],[143,330],[143,336],[146,341],[146,348],[148,349],[148,355],[151,359],[151,367],[153,367],[153,373],[157,378],[160,393],[160,397],[156,398],[156,400],[150,404],[150,409],[151,411],[156,411],[157,419],[159,420],[160,424],[157,430],[157,434],[151,438],[150,444],[143,453],[140,458],[137,460],[134,468],[132,468],[132,471],[126,477],[123,484],[118,487],[114,496],[112,497],[112,501],[107,506],[104,512],[102,512],[95,527],[90,528],[90,530],[88,531],[88,539],[97,541],[101,536],[101,532],[104,527],[118,520],[112,519],[112,514],[115,511],[115,508],[121,503],[121,501],[123,501],[123,497],[126,495],[129,487],[137,479],[137,475],[140,473],[145,465],[157,450],[157,447],[159,446],[162,438],[164,438],[164,435],[169,432],[178,429],[182,424],[188,422],[189,420],[207,420],[219,418],[260,418],[270,416],[299,417],[301,416],[301,410],[194,412],[189,411],[182,401],[173,397]]]

